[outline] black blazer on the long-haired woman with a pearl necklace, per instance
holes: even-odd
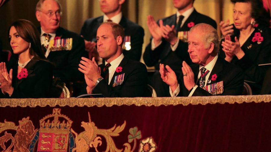
[[[33,58],[35,59],[35,58]],[[12,73],[12,87],[14,91],[9,97],[4,96],[1,92],[2,98],[47,98],[52,84],[53,69],[49,62],[42,60],[31,60],[25,68],[28,71],[26,78],[18,79],[18,60],[11,59],[8,62],[8,70],[13,69]]]

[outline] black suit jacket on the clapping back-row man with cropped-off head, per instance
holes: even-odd
[[[176,27],[176,14],[171,15],[170,17],[163,18],[164,25],[175,25]],[[198,13],[196,10],[192,12],[192,14],[187,18],[185,23],[183,24],[180,31],[189,31],[190,28],[187,26],[188,23],[194,22],[195,25],[198,23],[207,23],[213,26],[216,29],[216,22],[203,14]],[[158,21],[157,21],[158,24]],[[152,38],[151,38],[152,39]],[[180,65],[182,61],[187,62],[189,65],[192,64],[192,61],[187,52],[188,43],[179,41],[177,49],[173,52],[170,47],[170,43],[168,43],[164,38],[162,39],[162,44],[160,44],[154,50],[151,50],[151,41],[145,49],[143,54],[143,59],[147,66],[155,66],[155,69],[159,70],[159,64],[169,65],[174,71],[181,71]]]

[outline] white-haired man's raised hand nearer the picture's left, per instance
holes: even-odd
[[[175,72],[170,68],[170,66],[160,63],[159,72],[161,74],[162,80],[170,86],[170,89],[174,92],[179,86]]]

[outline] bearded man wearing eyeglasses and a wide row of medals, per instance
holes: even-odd
[[[61,5],[58,0],[39,0],[36,18],[42,48],[47,59],[54,64],[53,75],[69,84],[83,78],[77,68],[85,52],[84,39],[78,34],[59,26]]]

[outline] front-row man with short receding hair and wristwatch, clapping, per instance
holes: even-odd
[[[116,23],[102,23],[97,30],[97,50],[105,63],[82,57],[78,70],[85,74],[87,93],[105,97],[141,97],[147,88],[146,66],[122,53],[124,31]]]

